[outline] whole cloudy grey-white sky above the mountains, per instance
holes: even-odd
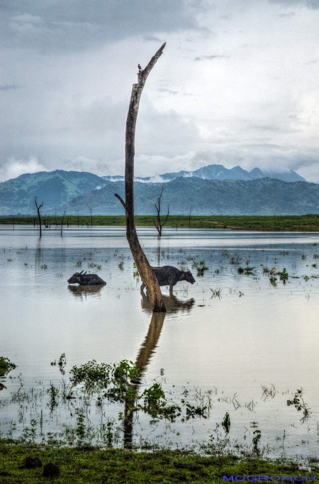
[[[0,0],[0,181],[218,163],[319,182],[319,0]]]

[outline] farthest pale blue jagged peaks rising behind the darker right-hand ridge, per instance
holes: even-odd
[[[195,170],[194,172],[188,172],[181,170],[179,172],[163,173],[163,175],[157,175],[155,177],[135,177],[136,182],[169,182],[178,177],[199,177],[203,180],[258,180],[259,178],[276,178],[276,180],[283,180],[284,182],[306,182],[305,178],[298,175],[298,173],[289,170],[289,172],[262,172],[259,168],[254,168],[248,172],[240,166],[233,168],[225,168],[223,165],[208,165]],[[121,175],[105,176],[104,180],[110,182],[118,182],[124,180]]]

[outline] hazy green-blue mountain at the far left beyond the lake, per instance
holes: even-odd
[[[26,173],[0,183],[0,214],[33,214],[35,196],[40,204],[43,202],[45,213],[108,183],[89,172],[55,170]]]

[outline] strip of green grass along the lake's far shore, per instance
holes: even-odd
[[[61,225],[60,216],[43,216],[43,219],[49,222],[51,228]],[[135,222],[137,226],[154,227],[155,217],[151,215],[137,215]],[[16,225],[29,224],[36,226],[35,217],[16,217]],[[6,217],[0,219],[0,224],[13,225],[13,218]],[[64,226],[91,226],[90,216],[68,216],[65,215]],[[94,226],[124,226],[125,216],[93,216]],[[167,219],[167,227],[188,228],[189,216],[170,215]],[[190,226],[193,229],[237,229],[237,230],[260,230],[260,231],[319,231],[319,214],[318,215],[275,215],[275,216],[191,216]]]

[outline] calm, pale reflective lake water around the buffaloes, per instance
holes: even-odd
[[[62,353],[65,380],[73,365],[135,362],[140,355],[144,386],[162,380],[176,401],[185,388],[193,395],[194,387],[213,390],[213,406],[208,419],[169,428],[164,422],[150,427],[150,417],[136,412],[135,439],[176,446],[210,435],[223,438],[220,423],[229,412],[233,444],[251,444],[258,428],[260,446],[272,455],[283,449],[318,453],[319,279],[312,276],[319,276],[319,234],[165,229],[159,241],[155,229],[138,232],[152,265],[191,268],[205,260],[208,267],[203,277],[191,269],[196,284],[179,282],[173,297],[162,288],[168,311],[161,321],[152,319],[140,295],[124,228],[69,228],[63,238],[51,229],[41,241],[30,226],[0,228],[0,356],[18,366],[11,378],[1,379],[0,431],[7,434],[16,422],[17,437],[31,418],[39,422],[40,404],[10,399],[21,382],[23,390],[58,385],[62,375],[50,363]],[[254,266],[255,275],[238,275],[233,262]],[[288,271],[286,285],[279,277],[272,285],[263,273],[274,265]],[[99,273],[107,285],[68,286],[67,279],[82,269]],[[219,288],[221,297],[213,297],[211,290]],[[262,386],[271,385],[276,394],[265,397]],[[304,420],[302,410],[286,405],[298,389],[310,408]],[[44,433],[74,425],[74,412],[61,405],[49,414],[43,402]],[[116,419],[118,411],[114,405],[103,408],[106,418]],[[93,402],[86,412],[93,424],[101,418]]]

